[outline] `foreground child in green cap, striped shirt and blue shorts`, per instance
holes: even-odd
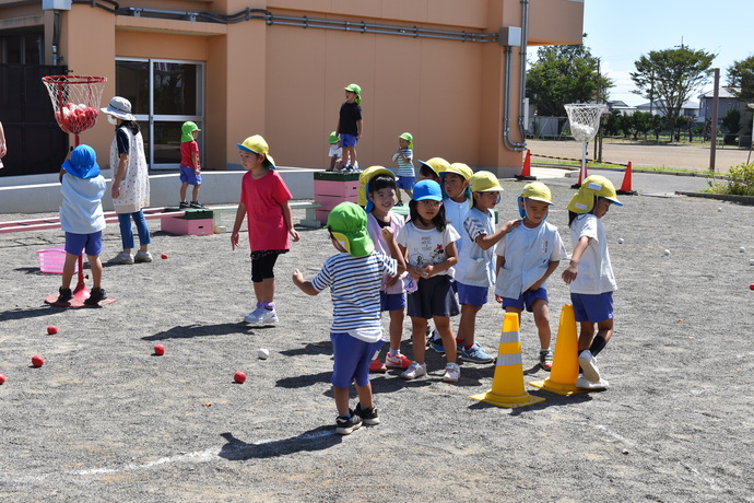
[[[340,253],[328,258],[311,281],[305,281],[296,269],[293,282],[308,295],[330,289],[335,432],[347,435],[362,423],[379,424],[369,383],[369,363],[382,347],[379,290],[385,276],[397,277],[405,264],[390,227],[382,229],[381,234],[393,258],[375,250],[366,230],[366,213],[353,202],[341,202],[333,208],[326,227],[332,246]],[[351,409],[349,390],[354,382],[358,403]]]

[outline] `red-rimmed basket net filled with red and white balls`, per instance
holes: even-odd
[[[107,78],[47,75],[42,81],[50,95],[60,129],[79,134],[96,124]]]

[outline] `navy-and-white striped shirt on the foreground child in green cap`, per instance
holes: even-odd
[[[311,284],[318,292],[330,288],[330,330],[346,332],[367,342],[379,340],[379,288],[382,284],[382,276],[396,276],[397,272],[398,261],[379,252],[373,252],[366,257],[340,253],[328,258],[322,270],[311,280]],[[372,328],[376,330],[369,330]],[[367,332],[373,336],[366,336]]]

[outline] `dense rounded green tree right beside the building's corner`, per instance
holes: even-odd
[[[599,62],[584,44],[540,47],[537,61],[527,71],[527,95],[537,113],[564,117],[568,103],[605,101],[615,84],[600,75]]]

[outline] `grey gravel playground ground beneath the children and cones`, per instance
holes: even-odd
[[[503,219],[516,217],[522,185],[505,182]],[[550,221],[570,249],[573,189],[552,188]],[[0,234],[0,499],[753,501],[754,209],[623,199],[604,219],[620,288],[600,355],[610,389],[562,397],[527,386],[546,400],[498,408],[469,399],[491,388],[494,366],[464,363],[461,381],[445,384],[444,360],[428,351],[426,378],[374,376],[382,423],[350,436],[334,434],[329,294],[306,296],[290,279],[295,267],[310,279],[333,253],[325,231],[299,227],[279,260],[281,321],[269,328],[241,321],[250,261],[227,234],[173,236],[151,221],[155,261],[106,267],[117,302],[68,311],[43,303],[60,276],[40,273],[35,253],[62,233]],[[104,257],[118,247],[110,225]],[[550,282],[553,330],[568,303],[562,270]],[[500,320],[494,302],[478,320],[493,352]],[[404,339],[410,355],[408,320]],[[546,378],[531,316],[521,339],[522,378]],[[156,343],[165,355],[152,354]],[[30,365],[34,354],[43,367]]]

